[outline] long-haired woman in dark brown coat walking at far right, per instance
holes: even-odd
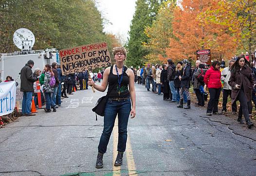
[[[253,127],[254,124],[249,118],[248,102],[252,102],[255,79],[252,75],[250,63],[243,56],[238,56],[237,61],[231,67],[231,76],[228,83],[232,87],[232,104],[239,100],[248,128]],[[242,122],[241,117],[238,117],[238,122]]]

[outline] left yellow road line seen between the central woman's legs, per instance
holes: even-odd
[[[118,117],[115,119],[115,125],[113,128],[113,176],[121,176],[121,166],[114,166],[117,156],[117,143],[118,143]]]

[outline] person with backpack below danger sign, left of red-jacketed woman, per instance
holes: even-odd
[[[200,91],[200,87],[204,86],[203,77],[207,69],[204,68],[204,64],[199,64],[197,71],[194,73],[194,90],[198,99],[198,106],[204,106],[203,93]]]

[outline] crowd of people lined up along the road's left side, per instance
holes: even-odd
[[[31,102],[34,97],[35,106],[38,106],[37,82],[40,84],[41,104],[46,105],[45,112],[56,112],[56,108],[61,106],[61,99],[69,98],[73,91],[88,89],[89,78],[93,80],[102,79],[104,69],[94,75],[91,71],[62,75],[60,65],[53,62],[52,65],[46,64],[43,70],[34,69],[34,61],[29,60],[20,71],[20,91],[23,92],[22,115],[35,116],[31,113]],[[6,81],[11,81],[12,77],[7,76]]]

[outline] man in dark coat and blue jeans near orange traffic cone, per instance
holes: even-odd
[[[37,78],[33,76],[32,68],[34,61],[29,60],[20,70],[20,91],[23,92],[22,114],[26,116],[35,116],[31,113],[32,93],[34,92],[33,83]]]

